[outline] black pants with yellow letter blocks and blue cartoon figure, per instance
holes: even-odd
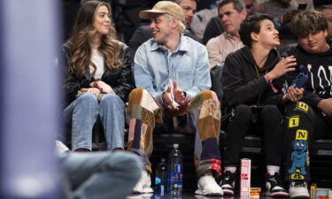
[[[332,136],[332,117],[306,103],[290,103],[283,120],[286,180],[310,180],[309,150],[313,140]]]

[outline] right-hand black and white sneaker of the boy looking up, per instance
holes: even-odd
[[[266,173],[266,195],[272,197],[288,197],[289,193],[283,188],[282,178],[279,172],[274,175]]]

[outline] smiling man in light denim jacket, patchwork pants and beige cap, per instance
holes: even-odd
[[[214,178],[220,175],[220,103],[210,90],[211,80],[205,46],[182,35],[181,7],[160,1],[140,18],[151,19],[152,38],[136,51],[135,85],[129,96],[128,150],[149,157],[152,132],[162,117],[184,116],[196,134],[195,161],[200,195],[222,195]],[[151,189],[151,163],[145,159],[141,180],[134,192]]]

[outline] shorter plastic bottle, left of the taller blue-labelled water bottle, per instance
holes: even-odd
[[[155,184],[158,195],[166,195],[167,193],[167,165],[166,159],[161,158],[161,163],[157,165]]]

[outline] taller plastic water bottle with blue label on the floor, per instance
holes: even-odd
[[[183,157],[179,144],[174,143],[173,148],[168,155],[168,193],[180,196],[182,194]]]

